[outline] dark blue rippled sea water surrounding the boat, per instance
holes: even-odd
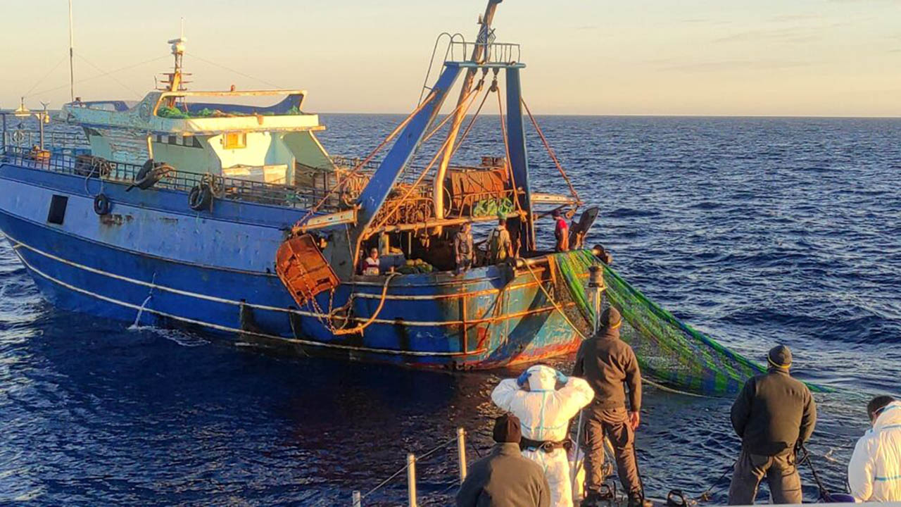
[[[323,115],[320,137],[334,154],[365,154],[399,119]],[[496,121],[478,124],[464,159],[503,154]],[[839,390],[818,398],[809,447],[827,483],[842,484],[863,404],[901,391],[901,121],[542,126],[582,197],[604,210],[589,244],[611,249],[627,280],[743,354],[792,346],[798,374]],[[530,153],[533,185],[564,191],[534,136]],[[50,307],[4,243],[0,503],[349,504],[458,426],[487,448],[488,393],[505,374],[274,357],[125,329]],[[650,493],[700,493],[732,463],[729,405],[648,392],[638,446]],[[450,451],[418,466],[423,504],[450,499]],[[402,502],[401,479],[364,505]]]

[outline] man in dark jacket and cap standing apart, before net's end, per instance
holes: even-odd
[[[804,383],[788,374],[791,351],[769,350],[769,371],[751,377],[733,403],[732,422],[742,438],[742,454],[735,462],[729,504],[754,502],[764,477],[773,503],[801,503],[801,477],[795,447],[814,433],[816,405]]]

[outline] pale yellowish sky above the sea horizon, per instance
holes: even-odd
[[[85,100],[154,88],[184,17],[190,88],[277,85],[308,90],[310,112],[404,113],[435,37],[472,41],[486,0],[73,3]],[[67,0],[0,0],[0,20],[0,107],[68,102]],[[504,0],[494,26],[522,44],[538,114],[901,115],[901,0]]]

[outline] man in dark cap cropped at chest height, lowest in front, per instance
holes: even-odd
[[[551,486],[542,467],[519,450],[519,419],[513,414],[495,419],[494,438],[491,454],[474,463],[460,484],[457,506],[549,507]]]

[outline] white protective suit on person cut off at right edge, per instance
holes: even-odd
[[[901,501],[901,401],[889,403],[857,441],[848,484],[858,502]]]

